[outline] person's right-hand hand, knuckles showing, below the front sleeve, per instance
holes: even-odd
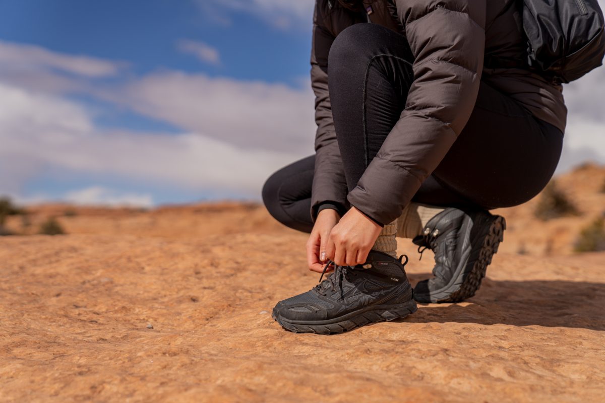
[[[351,207],[330,231],[327,257],[339,266],[365,263],[382,227]]]

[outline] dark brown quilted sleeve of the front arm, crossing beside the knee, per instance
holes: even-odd
[[[473,111],[485,49],[486,0],[394,0],[414,54],[401,118],[348,201],[381,223],[401,215]]]

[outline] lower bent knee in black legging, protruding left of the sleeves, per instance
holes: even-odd
[[[277,221],[310,233],[311,188],[315,155],[302,158],[273,173],[263,185],[263,202]]]

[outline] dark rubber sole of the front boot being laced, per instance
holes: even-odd
[[[398,305],[378,305],[355,312],[349,312],[338,318],[316,321],[288,321],[282,318],[279,312],[273,309],[272,317],[286,330],[294,333],[315,333],[329,335],[334,333],[348,332],[356,327],[365,326],[369,323],[391,321],[405,318],[417,310],[416,301],[410,300]]]

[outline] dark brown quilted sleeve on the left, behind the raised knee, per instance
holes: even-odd
[[[317,1],[313,16],[313,42],[311,51],[311,85],[315,92],[315,172],[311,199],[311,217],[317,218],[318,207],[323,202],[338,206],[341,214],[347,210],[347,181],[342,167],[342,158],[328,92],[328,55],[335,37],[324,25],[327,2]]]

